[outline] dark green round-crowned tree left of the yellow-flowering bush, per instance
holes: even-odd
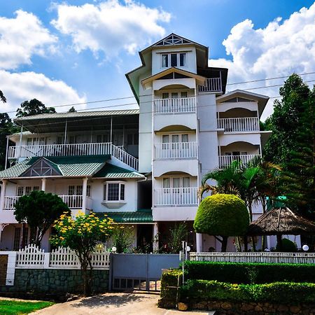
[[[52,223],[69,208],[57,195],[34,190],[30,195],[20,197],[15,204],[14,215],[19,223],[27,223],[34,239],[31,242],[41,246],[41,240]]]

